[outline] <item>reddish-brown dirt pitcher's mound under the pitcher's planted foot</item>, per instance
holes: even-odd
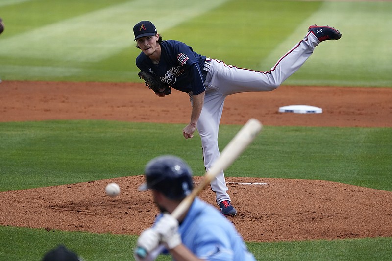
[[[115,198],[105,194],[110,182],[121,187]],[[150,192],[137,190],[143,182],[143,176],[132,176],[0,192],[0,224],[140,234],[158,213]],[[226,177],[226,182],[238,211],[229,219],[247,241],[392,236],[389,191],[320,180]],[[209,188],[200,197],[217,206]]]

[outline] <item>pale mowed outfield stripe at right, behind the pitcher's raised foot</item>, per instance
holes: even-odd
[[[321,43],[285,84],[392,86],[391,13],[392,2],[326,1],[260,64],[273,66],[305,36],[309,25],[330,25],[342,32],[342,38]],[[320,82],[325,75],[330,77]]]

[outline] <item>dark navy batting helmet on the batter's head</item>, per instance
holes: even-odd
[[[192,170],[182,159],[159,156],[149,161],[145,168],[146,183],[139,190],[153,189],[170,199],[182,199],[192,192]]]

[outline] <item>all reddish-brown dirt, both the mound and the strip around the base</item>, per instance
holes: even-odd
[[[244,124],[253,117],[274,126],[392,127],[391,100],[392,88],[282,86],[273,92],[229,96],[221,123]],[[321,107],[323,113],[277,112],[280,106],[293,104]],[[186,124],[190,111],[186,94],[174,90],[170,96],[159,98],[142,84],[0,84],[1,122],[110,119]],[[112,181],[122,189],[113,199],[104,194],[105,185]],[[195,182],[199,181],[195,177]],[[392,236],[389,191],[314,180],[226,181],[239,212],[230,220],[248,241]],[[48,231],[139,234],[157,213],[149,192],[137,192],[142,182],[140,175],[0,192],[0,224]],[[211,190],[204,190],[201,198],[215,204]]]

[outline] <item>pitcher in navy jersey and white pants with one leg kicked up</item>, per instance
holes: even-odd
[[[208,58],[179,41],[163,41],[150,21],[139,22],[133,32],[136,47],[142,50],[136,58],[137,67],[163,84],[159,89],[152,88],[155,93],[164,97],[171,93],[171,87],[188,93],[192,112],[190,122],[182,132],[185,139],[192,138],[197,128],[206,170],[220,157],[218,131],[228,95],[276,89],[305,63],[320,42],[338,40],[342,36],[333,27],[312,25],[304,39],[280,58],[270,71],[254,71]],[[151,83],[152,80],[148,78],[147,81]],[[216,193],[221,213],[237,215],[227,193],[223,171],[211,182],[211,189]]]

